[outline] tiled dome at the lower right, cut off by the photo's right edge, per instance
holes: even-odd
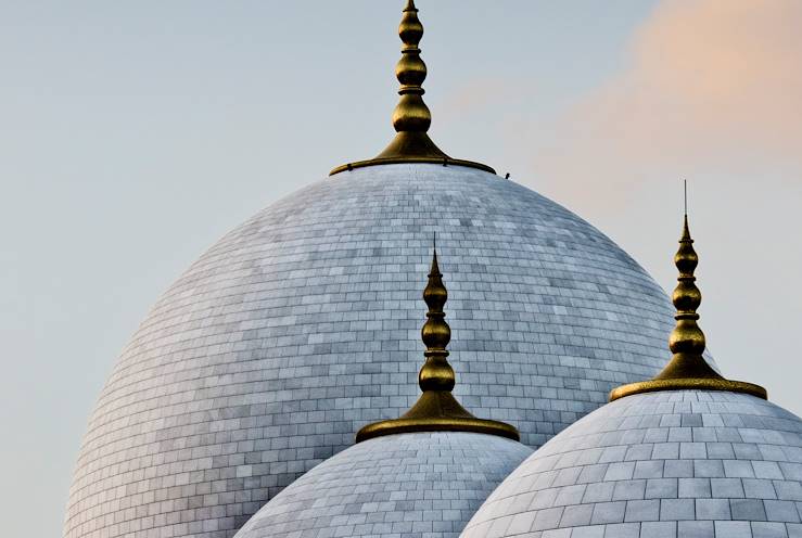
[[[801,522],[802,420],[744,394],[675,390],[615,400],[555,436],[462,536],[787,538]]]

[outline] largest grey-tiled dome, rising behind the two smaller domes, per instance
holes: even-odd
[[[480,170],[389,165],[226,235],[133,335],[90,420],[68,538],[228,538],[416,399],[437,232],[456,393],[537,447],[667,360],[663,292],[591,226]]]

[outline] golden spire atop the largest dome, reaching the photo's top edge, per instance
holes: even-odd
[[[427,64],[420,57],[421,51],[418,47],[423,37],[423,25],[418,18],[418,9],[413,0],[407,0],[400,25],[398,25],[398,36],[404,47],[402,47],[402,57],[395,66],[395,76],[400,82],[398,89],[400,99],[393,112],[395,139],[374,158],[339,166],[331,170],[330,175],[365,166],[397,163],[469,166],[495,174],[489,166],[449,157],[427,134],[432,124],[432,113],[423,102],[425,90],[422,85],[427,78]]]

